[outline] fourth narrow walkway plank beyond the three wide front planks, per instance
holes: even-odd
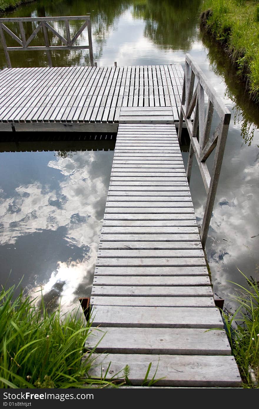
[[[114,243],[114,242],[108,242]],[[132,243],[132,242],[131,242]],[[144,242],[145,243],[148,242]],[[114,243],[118,245],[117,242]],[[127,242],[125,242],[127,244]],[[141,246],[141,243],[138,243]],[[120,245],[119,248],[122,248]],[[206,266],[195,267],[195,266],[178,266],[178,267],[95,267],[95,275],[107,275],[107,276],[150,276],[150,275],[159,275],[159,276],[207,276],[208,270]]]

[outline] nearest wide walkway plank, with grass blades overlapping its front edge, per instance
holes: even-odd
[[[101,374],[107,371],[107,379],[117,373],[120,373],[121,375],[118,376],[123,378],[123,369],[127,364],[131,369],[129,378],[133,385],[143,383],[150,362],[153,368],[150,379],[158,367],[155,379],[160,380],[156,385],[178,387],[238,387],[241,385],[234,358],[227,355],[109,354],[104,358],[104,355],[93,354],[92,358],[95,359],[95,365],[90,371],[91,376],[100,378]]]

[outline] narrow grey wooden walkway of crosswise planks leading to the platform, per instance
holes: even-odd
[[[112,378],[128,364],[132,384],[141,385],[152,362],[149,378],[157,365],[155,378],[163,378],[155,386],[239,386],[225,331],[206,332],[223,321],[175,125],[143,124],[147,110],[129,112],[121,111],[92,287],[99,328],[92,327],[86,348],[101,341],[91,375],[104,375],[111,362]]]

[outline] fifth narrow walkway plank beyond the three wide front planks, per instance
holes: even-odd
[[[126,236],[126,235],[125,235]],[[148,235],[146,235],[148,236]],[[146,237],[144,237],[146,239]],[[111,241],[109,239],[109,241]],[[119,250],[118,250],[119,251]],[[167,266],[167,267],[176,267],[180,265],[194,265],[196,267],[205,266],[206,262],[204,258],[200,257],[180,257],[180,258],[99,258],[96,262],[96,265],[102,267],[111,267],[117,265],[118,267],[138,267],[141,265],[142,267],[155,267],[155,266]]]

